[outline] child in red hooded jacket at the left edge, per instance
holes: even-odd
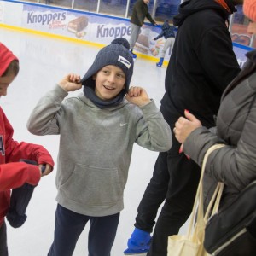
[[[0,43],[0,97],[7,95],[9,84],[19,73],[18,58]],[[44,175],[49,174],[54,161],[49,152],[40,145],[18,143],[13,139],[14,130],[0,108],[0,255],[8,256],[7,234],[4,217],[9,210],[10,189],[19,188],[24,183],[37,185]],[[19,162],[20,159],[33,160],[38,166]]]

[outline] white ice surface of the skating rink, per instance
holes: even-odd
[[[67,73],[84,76],[99,48],[55,38],[0,28],[0,41],[20,59],[20,73],[2,96],[0,106],[13,125],[15,140],[44,145],[55,162],[58,136],[34,136],[26,130],[26,121],[40,96],[50,90]],[[166,67],[137,58],[131,85],[144,87],[160,107],[164,94]],[[75,94],[78,92],[74,92]],[[137,206],[152,176],[156,152],[134,146],[128,181],[125,187],[125,209],[121,212],[112,256],[121,256],[133,230]],[[8,224],[9,256],[46,256],[55,228],[55,172],[43,177],[34,190],[27,208],[26,223],[19,229]],[[100,189],[100,188],[99,188]],[[89,224],[79,237],[73,256],[85,256]],[[186,230],[186,224],[181,233]]]

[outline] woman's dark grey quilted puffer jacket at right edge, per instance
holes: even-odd
[[[223,207],[256,179],[256,50],[247,53],[247,64],[224,90],[217,118],[217,134],[205,127],[193,131],[184,152],[200,166],[207,149],[225,143],[207,160],[204,180],[205,206],[217,182],[224,182]]]

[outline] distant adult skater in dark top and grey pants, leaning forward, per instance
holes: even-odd
[[[131,14],[131,37],[130,37],[130,52],[133,58],[137,58],[137,55],[133,53],[134,45],[137,42],[137,38],[141,32],[145,18],[147,18],[154,26],[156,22],[148,13],[148,3],[150,0],[137,0],[134,4]]]

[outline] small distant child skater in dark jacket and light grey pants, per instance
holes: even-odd
[[[158,40],[164,37],[166,39],[166,42],[164,44],[163,49],[160,52],[160,61],[156,63],[157,67],[162,67],[166,55],[166,50],[171,48],[170,50],[172,52],[172,47],[175,40],[175,26],[171,26],[168,20],[166,20],[164,24],[161,26],[161,30],[162,31],[160,32],[160,34],[156,38],[154,38],[154,40]]]

